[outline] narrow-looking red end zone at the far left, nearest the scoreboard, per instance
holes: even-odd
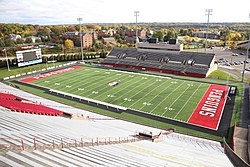
[[[58,71],[52,71],[52,72],[41,74],[41,75],[38,75],[38,76],[25,78],[25,79],[22,79],[20,81],[21,82],[32,82],[32,81],[35,81],[35,80],[38,80],[38,79],[41,79],[41,78],[47,78],[49,76],[65,73],[65,72],[72,71],[72,70],[75,70],[75,69],[78,69],[78,68],[83,68],[83,66],[72,66],[72,67],[61,69],[61,70],[58,70]]]

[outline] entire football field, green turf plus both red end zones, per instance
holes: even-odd
[[[217,130],[229,87],[157,75],[73,66],[28,82]]]

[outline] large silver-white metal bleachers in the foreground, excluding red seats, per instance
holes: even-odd
[[[23,99],[34,99],[61,111],[71,108],[0,83],[1,89]],[[97,114],[73,108],[80,114]],[[160,134],[161,129],[99,116],[96,120],[72,120],[11,112],[0,107],[0,166],[233,166],[219,142],[170,133],[162,140],[106,143],[127,139],[136,131]],[[79,145],[84,139],[86,145]],[[94,139],[99,145],[87,145]],[[98,141],[97,141],[98,140]],[[124,141],[125,141],[124,140]],[[53,142],[52,142],[53,141]],[[105,142],[104,142],[105,141]],[[116,141],[116,140],[114,140]],[[22,146],[23,149],[16,149]],[[75,143],[77,143],[75,145]],[[36,144],[36,146],[35,146]],[[52,147],[55,145],[55,147]],[[16,147],[15,147],[16,146]]]

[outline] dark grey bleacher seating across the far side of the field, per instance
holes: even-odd
[[[140,66],[142,68],[155,68],[173,72],[185,72],[206,75],[214,54],[180,52],[142,52],[136,48],[114,48],[104,59],[102,64]],[[183,63],[192,60],[193,63]]]

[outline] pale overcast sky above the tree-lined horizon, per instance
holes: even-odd
[[[250,0],[0,0],[0,23],[250,22]]]

